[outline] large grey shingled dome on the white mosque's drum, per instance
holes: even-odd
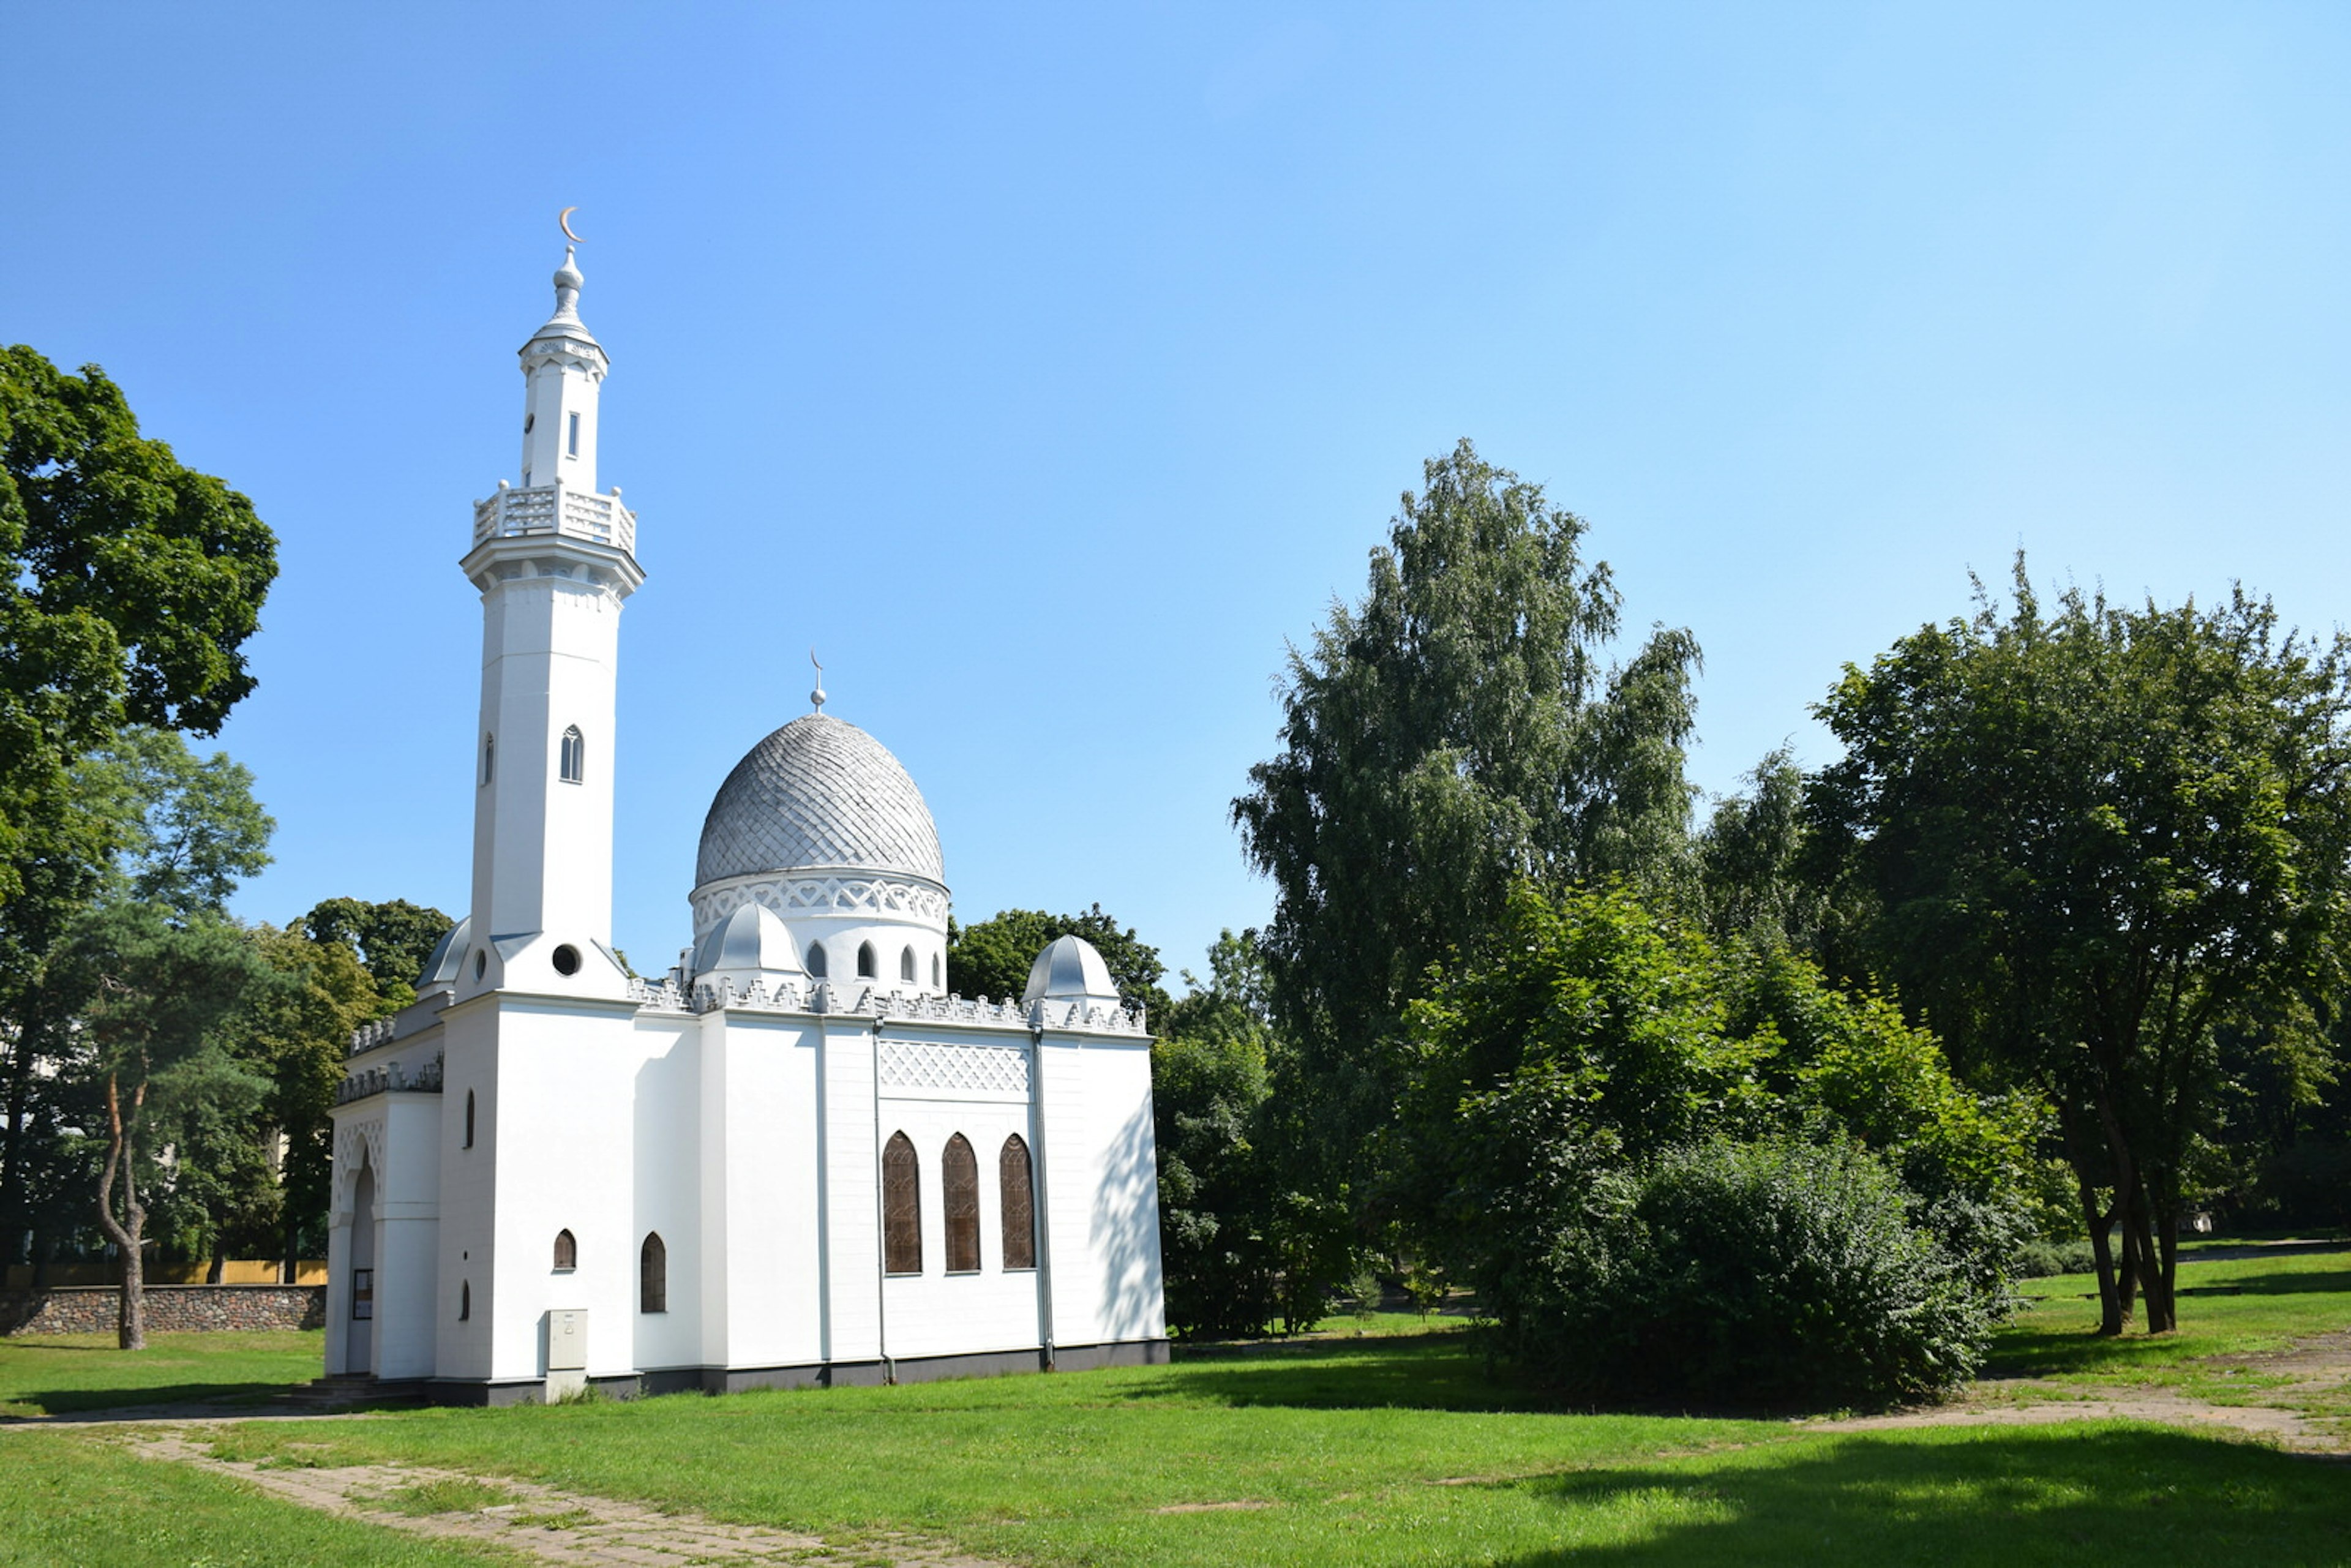
[[[811,867],[945,882],[922,790],[886,745],[825,712],[792,719],[726,776],[694,884]]]

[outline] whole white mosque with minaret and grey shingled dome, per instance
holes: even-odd
[[[947,994],[931,811],[823,691],[710,802],[679,966],[614,954],[644,571],[578,292],[567,252],[522,482],[473,508],[473,910],[353,1039],[327,1373],[515,1403],[1164,1361],[1143,1018],[1079,938],[1018,999]]]

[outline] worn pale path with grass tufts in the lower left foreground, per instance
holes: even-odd
[[[686,1563],[802,1563],[806,1568],[1004,1568],[938,1542],[882,1533],[853,1544],[792,1535],[762,1526],[717,1523],[698,1514],[663,1514],[637,1502],[585,1497],[536,1481],[473,1476],[426,1465],[341,1465],[277,1469],[212,1458],[202,1432],[150,1432],[129,1439],[150,1460],[195,1465],[240,1476],[287,1502],[364,1519],[393,1530],[505,1547],[541,1563],[574,1568],[684,1568]],[[388,1512],[379,1502],[409,1488],[454,1488],[447,1512]],[[498,1502],[465,1505],[465,1493],[501,1493]],[[371,1507],[374,1505],[374,1507]]]

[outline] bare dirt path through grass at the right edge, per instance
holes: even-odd
[[[2069,1420],[2156,1420],[2205,1432],[2243,1432],[2292,1453],[2351,1455],[2351,1420],[2339,1396],[2351,1385],[2351,1331],[2323,1333],[2288,1349],[2257,1356],[2208,1356],[2212,1373],[2288,1378],[2248,1387],[2243,1403],[2217,1403],[2161,1385],[2059,1382],[2052,1378],[1987,1378],[1947,1406],[1803,1422],[1808,1432],[1883,1432],[1893,1427],[2043,1427]],[[2309,1403],[2337,1403],[2335,1413],[2309,1413]]]

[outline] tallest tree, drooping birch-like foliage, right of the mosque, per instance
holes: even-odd
[[[1657,630],[1610,670],[1617,630],[1585,522],[1462,442],[1404,496],[1364,599],[1291,649],[1281,750],[1232,816],[1274,884],[1277,1095],[1321,1166],[1300,1190],[1375,1206],[1404,1006],[1516,882],[1686,879],[1697,644]]]

